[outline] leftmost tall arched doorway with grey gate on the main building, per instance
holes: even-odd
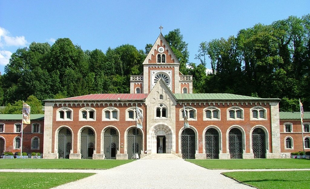
[[[58,132],[58,158],[69,159],[71,151],[72,134],[67,128],[63,128]]]

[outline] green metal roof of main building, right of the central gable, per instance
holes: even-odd
[[[229,93],[195,93],[195,94],[174,94],[177,100],[258,100],[258,101],[279,101],[280,99],[262,99],[244,95],[234,95]]]

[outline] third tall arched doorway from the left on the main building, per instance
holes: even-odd
[[[104,156],[105,159],[116,159],[118,149],[118,134],[113,128],[104,131]]]

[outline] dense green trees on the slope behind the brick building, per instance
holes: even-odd
[[[180,62],[181,73],[193,75],[195,93],[281,98],[281,111],[298,111],[300,98],[304,110],[310,111],[310,14],[256,24],[228,39],[201,42],[195,55],[200,64],[189,63],[188,44],[179,29],[165,38]],[[125,44],[104,53],[83,51],[69,38],[60,38],[52,46],[33,42],[12,54],[0,76],[0,105],[10,107],[31,95],[44,100],[129,93],[130,75],[142,73],[151,47],[146,44],[143,51]],[[208,75],[207,58],[212,70]]]

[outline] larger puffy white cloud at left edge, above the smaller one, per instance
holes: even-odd
[[[11,37],[10,32],[0,27],[0,47],[26,46],[28,44],[24,36]]]

